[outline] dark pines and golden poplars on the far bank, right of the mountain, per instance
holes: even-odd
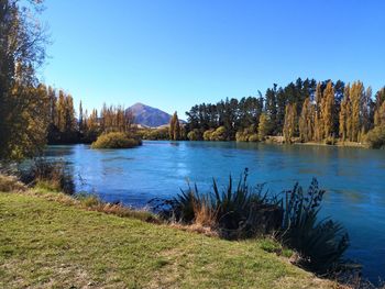
[[[285,142],[362,142],[385,124],[385,87],[372,96],[362,81],[300,79],[274,85],[263,96],[194,105],[186,115],[189,138]]]

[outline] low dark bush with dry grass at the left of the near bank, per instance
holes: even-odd
[[[75,192],[73,176],[64,163],[50,162],[45,158],[37,158],[26,168],[22,169],[21,180],[42,189],[63,191],[72,194]]]

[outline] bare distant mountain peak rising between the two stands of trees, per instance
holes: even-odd
[[[169,123],[172,115],[160,109],[155,109],[143,103],[135,103],[128,108],[135,116],[135,123],[143,126],[157,127]]]

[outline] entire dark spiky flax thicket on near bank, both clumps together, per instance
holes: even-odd
[[[264,192],[264,186],[248,185],[245,170],[235,187],[231,177],[223,190],[213,180],[212,191],[208,193],[189,186],[172,200],[155,202],[154,209],[164,219],[187,226],[207,226],[228,240],[274,233],[282,243],[279,251],[284,247],[295,251],[299,266],[330,276],[350,267],[343,259],[349,235],[338,222],[319,220],[323,194],[324,190],[314,179],[306,192],[296,184],[293,190],[284,191],[286,198],[270,196]],[[271,243],[266,247],[278,251]]]

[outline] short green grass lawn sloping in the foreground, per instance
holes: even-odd
[[[262,249],[0,193],[0,288],[331,288]]]

